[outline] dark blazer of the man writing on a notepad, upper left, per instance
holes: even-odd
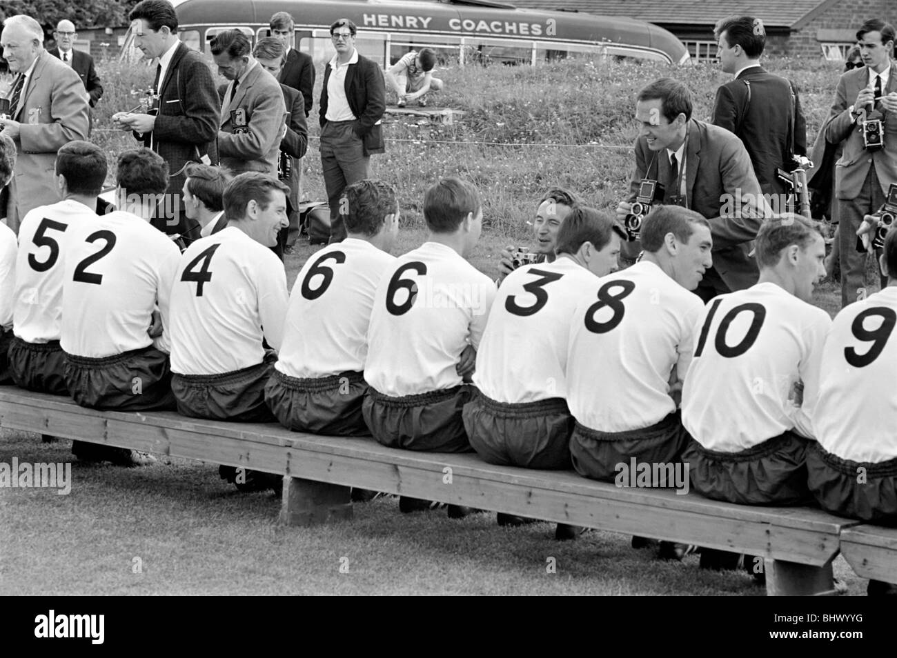
[[[187,162],[201,161],[205,155],[212,165],[218,164],[215,138],[220,116],[221,101],[212,71],[201,54],[180,43],[159,84],[159,114],[152,133],[137,137],[168,162],[166,194],[180,199],[186,179],[182,169]],[[180,206],[184,217],[183,200]]]

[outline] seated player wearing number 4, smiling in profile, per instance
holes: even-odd
[[[180,258],[171,289],[171,388],[185,416],[274,420],[265,385],[283,341],[288,296],[283,263],[270,247],[287,225],[289,193],[266,174],[234,177],[224,188],[227,228],[196,240]],[[220,472],[229,481],[239,475],[228,466]],[[246,476],[252,489],[254,474]]]

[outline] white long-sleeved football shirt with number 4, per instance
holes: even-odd
[[[171,371],[221,375],[279,350],[288,293],[283,263],[235,226],[187,247],[171,289]]]

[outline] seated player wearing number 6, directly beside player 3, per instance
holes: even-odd
[[[495,284],[465,260],[483,228],[480,195],[445,178],[424,195],[423,217],[429,239],[398,258],[374,295],[362,412],[384,446],[466,452],[466,383],[495,299]],[[402,511],[423,506],[410,500],[400,500]],[[465,510],[449,506],[456,512]]]

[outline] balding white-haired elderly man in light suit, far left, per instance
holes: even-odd
[[[18,158],[8,203],[0,213],[16,233],[32,208],[57,201],[59,148],[87,136],[87,92],[71,68],[44,50],[43,42],[39,22],[25,15],[6,19],[0,34],[4,58],[17,74],[13,86],[0,93],[9,115],[0,118],[0,128],[15,142]]]

